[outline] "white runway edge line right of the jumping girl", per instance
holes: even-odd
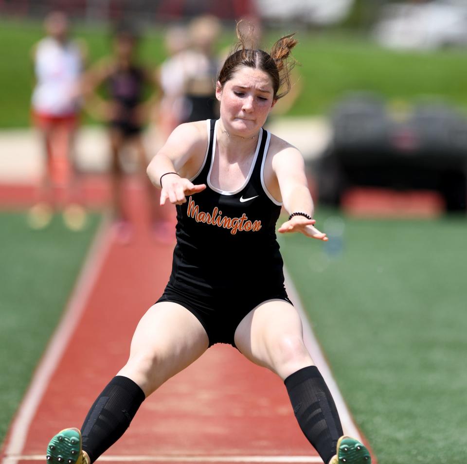
[[[321,346],[313,333],[308,316],[303,308],[302,301],[300,300],[298,292],[295,286],[293,285],[292,279],[290,278],[290,275],[288,274],[287,269],[285,267],[284,274],[286,276],[287,294],[295,308],[297,308],[298,312],[300,313],[300,316],[302,317],[303,338],[305,341],[305,346],[306,348],[308,348],[308,351],[310,352],[311,357],[313,358],[313,361],[316,364],[316,367],[320,370],[321,375],[323,375],[323,378],[329,388],[329,391],[331,392],[332,397],[334,398],[337,410],[339,411],[339,417],[341,418],[341,424],[344,434],[354,437],[357,440],[361,441],[360,432],[352,419],[352,415],[350,414],[350,411],[347,408],[347,405],[345,404],[339,387],[337,386],[337,383],[334,380],[331,370],[329,369],[326,358],[323,355],[323,350],[321,349]]]

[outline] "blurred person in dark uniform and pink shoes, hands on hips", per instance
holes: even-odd
[[[125,208],[125,172],[121,162],[128,147],[136,151],[141,181],[147,188],[152,231],[158,239],[164,239],[169,232],[170,236],[173,234],[169,223],[162,218],[151,182],[145,175],[148,160],[143,129],[159,92],[155,72],[146,69],[138,59],[139,42],[133,26],[117,25],[113,32],[112,54],[91,68],[84,79],[87,109],[108,125],[114,230],[122,243],[128,242],[133,232],[130,214]]]

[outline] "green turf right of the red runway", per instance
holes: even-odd
[[[281,240],[341,392],[379,464],[460,464],[467,222],[343,220],[341,252]]]

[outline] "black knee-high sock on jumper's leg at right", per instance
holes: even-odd
[[[284,383],[300,428],[321,459],[328,463],[336,454],[342,427],[320,371],[316,366],[304,367],[289,375]]]

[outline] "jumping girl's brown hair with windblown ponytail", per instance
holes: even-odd
[[[227,57],[222,66],[222,69],[217,76],[217,81],[223,87],[224,84],[232,79],[233,74],[242,67],[255,68],[266,72],[272,80],[272,88],[274,89],[274,100],[279,100],[287,95],[290,90],[290,71],[295,66],[295,60],[288,61],[290,51],[298,43],[293,38],[295,34],[281,37],[273,46],[270,53],[263,50],[253,49],[253,30],[250,28],[248,35],[245,35],[240,30],[240,22],[237,23],[238,43],[234,51]],[[251,39],[250,48],[247,43]],[[282,92],[279,93],[279,89]]]

